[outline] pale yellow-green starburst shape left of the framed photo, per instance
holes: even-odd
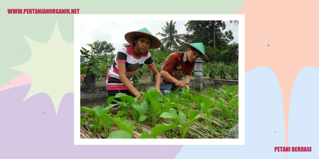
[[[31,48],[31,58],[26,63],[11,68],[31,77],[31,87],[24,100],[37,93],[47,93],[57,114],[63,96],[74,92],[74,43],[64,41],[57,22],[46,43],[23,36]]]

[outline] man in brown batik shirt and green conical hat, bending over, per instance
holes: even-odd
[[[185,43],[186,52],[173,52],[165,60],[160,74],[163,79],[159,86],[162,94],[167,97],[164,90],[175,91],[178,87],[185,87],[189,90],[190,74],[192,73],[198,57],[208,60],[205,55],[203,43]],[[184,81],[182,81],[182,77]]]

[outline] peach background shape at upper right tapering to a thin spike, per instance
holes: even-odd
[[[319,24],[315,20],[318,6],[319,2],[313,0],[245,0],[235,13],[245,14],[245,73],[267,66],[277,75],[284,105],[286,146],[295,77],[303,67],[319,68],[319,35],[313,31]]]

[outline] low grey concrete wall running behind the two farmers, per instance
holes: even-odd
[[[193,89],[193,82],[194,80],[190,80],[190,88]],[[218,88],[219,86],[227,85],[233,86],[238,85],[238,82],[232,81],[219,81],[214,79],[204,79],[203,80],[203,89],[207,90],[207,88],[212,87],[214,89]],[[149,87],[155,87],[155,83],[142,83],[134,86],[138,91],[146,92]],[[81,87],[80,89],[80,99],[81,103],[83,102],[90,102],[94,100],[103,100],[108,97],[108,92],[106,86],[100,87]]]

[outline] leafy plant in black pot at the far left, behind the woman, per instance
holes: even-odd
[[[92,44],[86,44],[91,47],[91,51],[86,50],[84,47],[80,50],[84,59],[82,59],[81,67],[87,66],[84,73],[83,86],[91,87],[95,86],[95,78],[102,78],[103,69],[101,68],[101,56],[96,52],[97,48],[93,47]]]

